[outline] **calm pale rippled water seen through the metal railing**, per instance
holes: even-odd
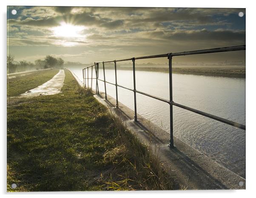
[[[82,69],[70,68],[81,80]],[[91,76],[91,71],[89,70]],[[93,71],[95,77],[95,71]],[[105,70],[115,83],[114,70]],[[99,78],[103,79],[100,70]],[[117,71],[119,85],[133,89],[133,72]],[[104,83],[99,83],[104,91]],[[91,86],[91,81],[89,81]],[[115,86],[107,93],[116,98]],[[95,82],[93,82],[95,89]],[[136,71],[138,91],[169,99],[169,75]],[[133,92],[118,88],[118,99],[134,110]],[[245,124],[245,79],[173,74],[173,100],[206,113]],[[137,93],[137,112],[170,133],[169,105]],[[245,131],[174,106],[174,136],[245,178]]]

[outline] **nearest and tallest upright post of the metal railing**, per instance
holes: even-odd
[[[169,88],[170,88],[170,148],[174,148],[174,124],[173,124],[173,88],[172,88],[172,54],[168,54],[169,59]]]

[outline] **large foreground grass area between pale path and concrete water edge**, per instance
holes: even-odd
[[[65,71],[63,93],[8,105],[7,190],[179,188],[148,149]]]

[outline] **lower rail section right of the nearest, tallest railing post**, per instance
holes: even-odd
[[[186,110],[192,111],[192,112],[194,112],[194,113],[200,114],[200,115],[202,115],[202,116],[206,116],[206,117],[208,117],[208,118],[215,119],[215,120],[217,120],[217,121],[219,121],[219,122],[223,122],[223,123],[226,123],[226,124],[232,125],[232,126],[234,126],[234,127],[237,127],[237,128],[240,128],[240,129],[245,130],[245,125],[243,125],[243,124],[239,124],[239,123],[236,123],[236,122],[233,122],[233,121],[230,121],[230,120],[227,120],[227,119],[218,117],[218,116],[214,116],[214,115],[212,115],[212,114],[210,114],[210,113],[205,113],[205,112],[203,112],[203,111],[196,110],[196,109],[193,109],[193,108],[191,108],[191,107],[187,107],[187,106],[184,106],[184,105],[180,105],[180,104],[178,104],[178,103],[176,103],[176,102],[170,102],[170,105],[171,105],[171,104],[174,105],[174,106],[176,106],[176,107],[180,107],[180,108],[182,108],[182,109],[186,109]]]

